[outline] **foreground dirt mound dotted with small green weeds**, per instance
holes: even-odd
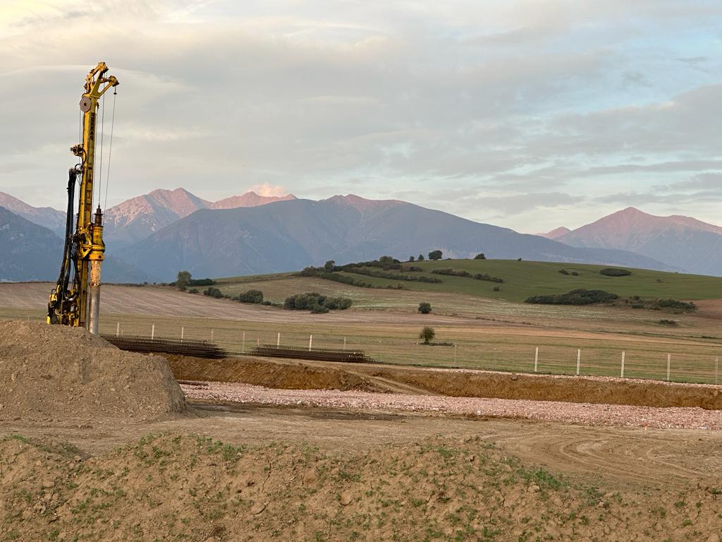
[[[147,436],[100,457],[0,440],[0,538],[22,541],[713,541],[720,485],[619,492],[478,437],[326,454]]]

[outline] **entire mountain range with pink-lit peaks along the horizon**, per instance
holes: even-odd
[[[64,213],[36,209],[8,194],[0,193],[0,202],[7,205],[0,214],[0,246],[16,251],[14,262],[6,261],[9,251],[0,253],[0,280],[54,279],[61,241],[53,231]],[[282,272],[327,259],[339,264],[382,254],[406,259],[432,249],[445,257],[484,252],[500,259],[722,275],[722,228],[631,207],[574,231],[529,235],[399,200],[349,194],[313,201],[248,192],[208,202],[179,188],[111,207],[104,223],[106,282],[172,280],[178,270],[212,277]],[[18,239],[22,254],[13,245]],[[32,246],[48,257],[38,260]]]

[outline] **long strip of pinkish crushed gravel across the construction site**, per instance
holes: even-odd
[[[306,405],[361,410],[399,410],[456,416],[490,416],[562,421],[583,425],[654,429],[722,429],[722,411],[703,408],[654,408],[478,397],[401,395],[334,390],[272,390],[251,384],[204,382],[182,385],[188,399],[261,405]]]

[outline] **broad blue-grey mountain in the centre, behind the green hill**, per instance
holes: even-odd
[[[577,249],[410,203],[352,195],[199,210],[118,254],[149,274],[170,280],[178,270],[215,277],[281,272],[326,259],[342,263],[382,254],[406,259],[431,249],[441,249],[448,257],[485,252],[500,259],[669,269],[625,251]]]

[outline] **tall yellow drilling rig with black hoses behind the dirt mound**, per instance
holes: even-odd
[[[118,79],[113,75],[106,76],[107,72],[108,66],[105,62],[100,62],[85,78],[85,92],[80,98],[80,111],[83,113],[82,143],[70,149],[80,161],[68,172],[68,210],[63,261],[58,283],[53,288],[48,302],[48,324],[85,327],[95,334],[98,332],[100,314],[100,265],[105,258],[100,194],[95,216],[92,214],[95,127],[100,98],[110,87],[118,85]],[[72,231],[75,215],[75,185],[78,177],[80,177],[78,212],[75,229]]]

